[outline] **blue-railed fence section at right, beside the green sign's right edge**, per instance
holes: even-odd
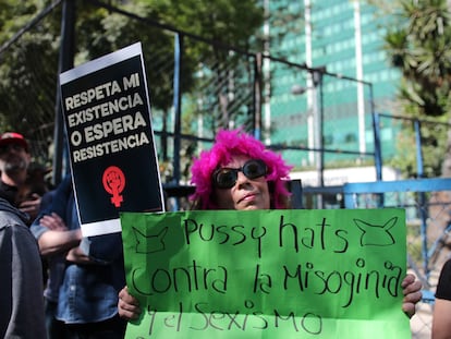
[[[424,300],[411,320],[413,338],[430,338],[434,293],[449,258],[451,180],[420,179],[350,183],[343,186],[346,208],[404,208],[409,269],[423,282]]]

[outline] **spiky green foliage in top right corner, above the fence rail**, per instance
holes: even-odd
[[[400,2],[400,15],[405,24],[392,26],[386,47],[393,65],[400,68],[409,81],[404,83],[401,98],[416,106],[420,116],[443,116],[449,108],[451,80],[451,26],[447,2]]]

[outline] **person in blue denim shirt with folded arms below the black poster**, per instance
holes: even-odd
[[[126,323],[118,315],[125,283],[120,233],[83,238],[71,177],[31,230],[49,261],[44,292],[50,339],[122,339]]]

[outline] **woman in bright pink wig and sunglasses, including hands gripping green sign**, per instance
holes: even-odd
[[[285,180],[290,167],[281,156],[267,149],[240,130],[220,131],[210,150],[204,150],[192,167],[193,209],[269,209],[289,208]],[[412,317],[422,299],[422,283],[407,275],[402,281],[402,310]],[[119,293],[119,314],[137,318],[137,300],[124,287]]]

